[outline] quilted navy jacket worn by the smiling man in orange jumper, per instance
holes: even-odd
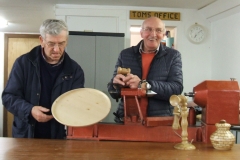
[[[140,41],[137,46],[124,49],[117,60],[113,78],[117,74],[117,68],[130,68],[131,73],[137,75],[140,79],[142,77],[142,57],[139,53]],[[120,98],[112,92],[117,92],[111,79],[108,84],[108,91],[114,98]],[[173,107],[169,103],[171,95],[179,95],[183,91],[183,74],[182,74],[182,60],[181,54],[175,49],[163,46],[159,47],[159,51],[153,58],[150,64],[147,82],[151,85],[151,90],[157,94],[148,98],[147,114],[152,116],[172,116]],[[120,92],[119,92],[120,93]],[[119,103],[117,114],[119,117],[124,117],[123,102]]]

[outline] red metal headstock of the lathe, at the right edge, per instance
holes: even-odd
[[[215,124],[224,119],[231,125],[239,125],[239,86],[237,81],[204,81],[194,87],[193,101],[202,107],[202,141],[210,142]]]

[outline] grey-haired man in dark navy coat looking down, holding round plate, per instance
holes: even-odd
[[[65,52],[64,21],[45,20],[39,39],[41,45],[16,59],[2,101],[14,115],[13,137],[63,139],[65,127],[53,118],[51,106],[61,94],[84,87],[84,72]]]

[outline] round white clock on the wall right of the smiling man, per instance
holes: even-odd
[[[206,33],[202,26],[195,24],[189,28],[188,37],[193,43],[201,43],[205,39]]]

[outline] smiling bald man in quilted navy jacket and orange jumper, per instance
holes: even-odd
[[[113,78],[108,83],[110,95],[120,98],[119,86],[138,88],[144,82],[145,88],[157,93],[148,97],[147,116],[172,116],[173,107],[169,98],[183,91],[181,54],[164,46],[165,24],[157,17],[144,20],[140,31],[141,40],[137,46],[124,49],[117,60]],[[117,74],[117,68],[130,68],[127,76]],[[115,121],[121,123],[124,117],[123,101],[115,113]]]

